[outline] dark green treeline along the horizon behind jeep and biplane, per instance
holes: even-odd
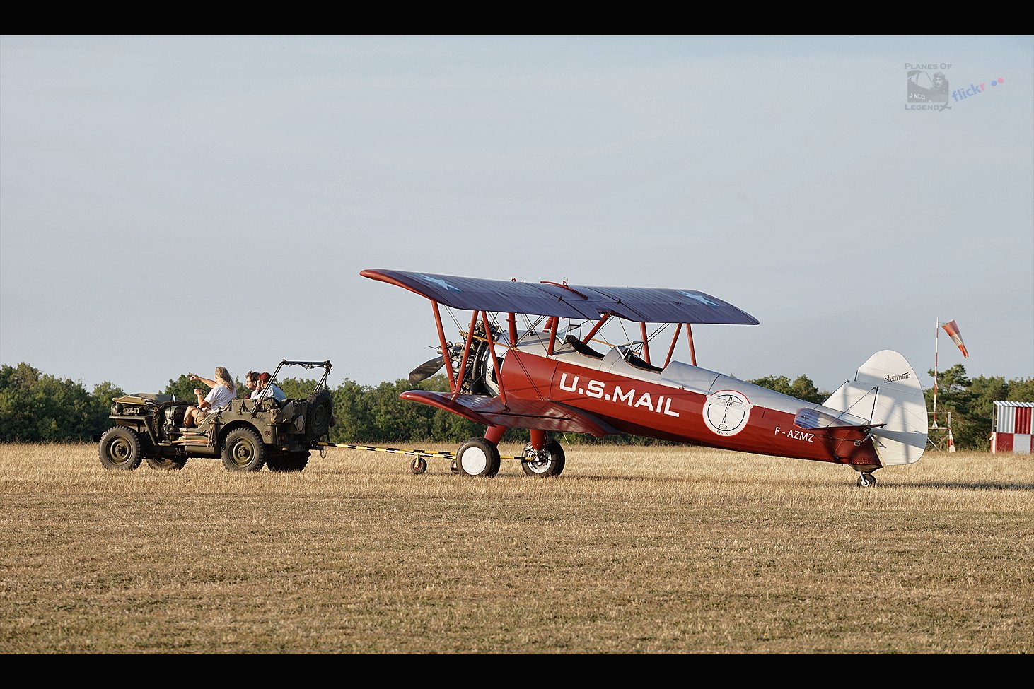
[[[933,375],[933,371],[930,372]],[[786,376],[765,376],[749,382],[809,402],[822,402],[829,394],[818,389],[808,376],[790,380]],[[286,378],[280,386],[287,397],[304,398],[312,390],[313,380]],[[162,390],[193,403],[193,388],[199,384],[185,375],[172,379]],[[204,389],[205,386],[201,385]],[[331,390],[336,424],[331,441],[342,443],[422,443],[462,442],[484,433],[484,427],[465,418],[399,399],[414,388],[447,392],[444,375],[428,378],[419,385],[406,380],[361,385],[345,380]],[[139,390],[132,390],[139,392]],[[237,381],[237,392],[247,396],[247,388]],[[88,441],[111,426],[108,414],[112,398],[125,393],[110,381],[88,392],[82,382],[56,378],[28,364],[3,365],[0,369],[0,441],[54,442]],[[926,390],[926,406],[933,410],[933,390]],[[1034,378],[1005,380],[999,377],[969,378],[966,369],[956,365],[939,376],[938,412],[951,411],[952,433],[960,449],[987,449],[994,424],[993,400],[1034,401]],[[943,425],[943,420],[941,421]],[[527,432],[514,429],[506,440],[522,441]],[[635,436],[610,436],[595,439],[570,435],[578,442],[650,444],[659,441]]]

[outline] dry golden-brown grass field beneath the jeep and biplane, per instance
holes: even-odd
[[[336,448],[231,474],[0,444],[0,652],[1034,651],[1029,456],[860,489],[817,462],[567,449],[559,478],[484,480]]]

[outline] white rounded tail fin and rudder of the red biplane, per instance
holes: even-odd
[[[890,349],[878,351],[823,406],[883,424],[873,446],[884,466],[912,464],[926,448],[926,400],[915,371]]]

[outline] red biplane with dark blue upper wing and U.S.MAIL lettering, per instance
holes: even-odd
[[[922,388],[895,351],[873,354],[822,404],[696,366],[694,324],[758,324],[747,312],[698,290],[391,270],[360,275],[431,302],[439,355],[418,366],[409,382],[444,368],[450,392],[414,389],[401,397],[486,427],[483,438],[459,447],[456,473],[494,476],[497,444],[510,428],[530,433],[524,455],[516,458],[530,476],[564,471],[564,448],[551,433],[625,433],[831,462],[857,471],[862,487],[875,486],[873,472],[881,467],[917,461],[926,445]],[[454,318],[458,341],[446,338],[443,306]],[[454,311],[469,311],[469,320],[457,319]],[[615,323],[618,337],[604,338],[605,326],[614,332]],[[683,330],[690,364],[672,361]],[[668,345],[663,358],[659,340]],[[415,465],[415,473],[422,470]]]

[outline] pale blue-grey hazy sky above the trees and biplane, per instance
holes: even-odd
[[[744,379],[929,386],[951,319],[1034,376],[1034,38],[0,37],[0,363],[405,377],[429,303],[364,269],[700,290]]]

